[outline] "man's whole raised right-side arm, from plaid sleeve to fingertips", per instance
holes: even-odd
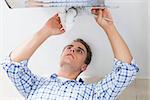
[[[106,32],[113,49],[113,70],[98,82],[94,98],[116,100],[117,96],[135,79],[139,68],[132,58],[130,50],[118,33],[108,9],[92,9],[96,21]]]

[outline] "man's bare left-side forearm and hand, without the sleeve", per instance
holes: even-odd
[[[58,14],[50,18],[46,24],[24,44],[12,51],[12,61],[29,59],[36,49],[50,36],[64,33]]]

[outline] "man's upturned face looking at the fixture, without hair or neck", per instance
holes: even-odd
[[[85,46],[80,42],[72,42],[64,48],[60,65],[61,67],[65,65],[70,66],[74,71],[84,71],[87,67],[87,64],[84,62],[86,56],[87,50]]]

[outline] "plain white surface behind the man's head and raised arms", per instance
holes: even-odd
[[[115,0],[119,5],[111,9],[118,31],[127,42],[137,63],[143,68],[138,77],[148,77],[148,16],[146,1]],[[61,8],[8,9],[3,2],[3,56],[32,36]],[[59,69],[59,57],[66,43],[83,38],[93,50],[92,63],[86,76],[104,76],[112,69],[113,54],[103,30],[93,16],[79,16],[73,30],[61,36],[50,37],[33,55],[30,69],[40,75],[49,75]],[[150,76],[149,76],[150,77]]]

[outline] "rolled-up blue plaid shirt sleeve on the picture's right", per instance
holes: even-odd
[[[115,100],[116,97],[135,79],[139,71],[138,65],[132,59],[131,64],[114,59],[113,70],[98,82],[94,89],[95,100]]]

